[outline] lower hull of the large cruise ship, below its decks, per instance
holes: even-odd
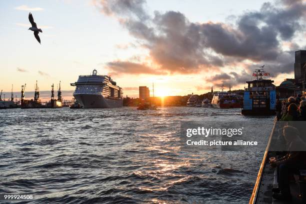
[[[73,94],[73,96],[83,108],[122,107],[123,104],[121,99],[104,98],[98,94]]]

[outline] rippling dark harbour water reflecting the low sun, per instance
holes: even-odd
[[[0,193],[35,195],[24,203],[248,203],[263,151],[184,151],[179,122],[194,120],[272,126],[240,109],[0,110]]]

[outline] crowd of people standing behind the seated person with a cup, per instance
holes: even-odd
[[[280,121],[305,121],[306,100],[300,94],[288,100],[276,99],[276,119]]]

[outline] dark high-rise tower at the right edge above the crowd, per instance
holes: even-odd
[[[306,50],[295,51],[294,79],[298,82],[302,82],[304,80],[305,63],[306,63]]]

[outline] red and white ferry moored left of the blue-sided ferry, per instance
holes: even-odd
[[[217,108],[240,108],[240,100],[237,95],[234,93],[230,93],[224,90],[224,86],[222,84],[222,91],[218,91],[213,94],[211,105]]]

